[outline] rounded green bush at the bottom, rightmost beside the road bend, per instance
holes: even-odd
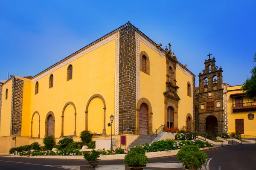
[[[177,153],[177,159],[180,160],[185,168],[191,170],[201,169],[207,160],[207,154],[199,151],[197,146],[188,145],[182,147]]]

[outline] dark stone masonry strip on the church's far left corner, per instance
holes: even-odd
[[[12,80],[12,111],[10,135],[17,133],[17,136],[21,136],[22,105],[23,80],[14,78]]]

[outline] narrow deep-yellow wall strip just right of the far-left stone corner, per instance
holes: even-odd
[[[22,101],[22,119],[21,119],[21,136],[30,136],[30,93],[31,93],[31,80],[23,77],[17,77],[23,80],[23,101]],[[37,136],[38,137],[38,136]]]

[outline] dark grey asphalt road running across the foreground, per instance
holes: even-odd
[[[206,151],[210,170],[256,170],[256,144],[233,145]],[[148,163],[177,162],[176,157],[149,159]],[[100,161],[100,164],[124,164],[123,161]],[[9,158],[0,156],[0,170],[61,170],[63,165],[89,167],[85,160]]]

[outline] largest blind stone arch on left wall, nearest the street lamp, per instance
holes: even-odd
[[[106,102],[105,102],[105,99],[103,98],[103,96],[100,95],[100,94],[93,94],[93,96],[91,96],[90,99],[87,102],[87,105],[86,105],[86,108],[85,108],[85,130],[88,130],[88,107],[89,107],[89,104],[92,101],[92,99],[95,98],[95,97],[99,97],[102,100],[103,105],[104,105],[104,108],[103,108],[104,116],[103,116],[103,130],[102,130],[102,133],[106,134]]]

